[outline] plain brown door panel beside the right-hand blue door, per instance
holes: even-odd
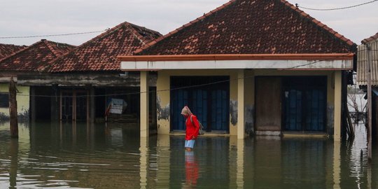
[[[256,130],[281,131],[281,78],[256,78]]]

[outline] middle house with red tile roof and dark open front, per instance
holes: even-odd
[[[51,119],[94,120],[104,118],[109,99],[124,99],[129,106],[126,114],[139,113],[139,74],[120,76],[118,55],[134,50],[159,37],[156,31],[123,22],[79,45],[71,52],[41,66],[43,75],[19,78],[22,85],[40,97],[31,102],[51,102]],[[48,73],[47,73],[48,72]],[[151,82],[151,86],[155,84]],[[46,104],[47,106],[47,104]],[[45,118],[50,109],[36,111],[32,119]]]

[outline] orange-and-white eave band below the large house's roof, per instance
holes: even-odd
[[[118,56],[123,71],[164,69],[351,70],[353,53]]]

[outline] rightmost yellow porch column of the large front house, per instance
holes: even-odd
[[[341,140],[341,108],[342,108],[342,74],[335,71],[335,111],[333,125],[333,139]]]

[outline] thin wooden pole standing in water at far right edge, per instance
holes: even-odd
[[[372,162],[372,74],[371,74],[371,49],[365,44],[367,50],[367,162]]]

